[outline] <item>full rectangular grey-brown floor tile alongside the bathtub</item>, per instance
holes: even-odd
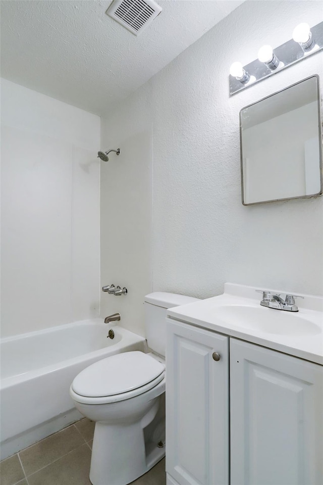
[[[19,453],[26,476],[58,460],[83,443],[80,433],[72,425],[26,448]]]

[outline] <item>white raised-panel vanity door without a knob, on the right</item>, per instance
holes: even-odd
[[[323,367],[230,339],[231,485],[322,485]]]

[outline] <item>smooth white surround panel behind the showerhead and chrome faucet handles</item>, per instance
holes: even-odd
[[[128,293],[122,298],[101,293],[101,315],[120,313],[123,327],[144,336],[142,302],[152,288],[152,126],[132,115],[123,123],[121,132],[113,122],[111,133],[102,131],[101,146],[121,147],[121,153],[117,160],[101,163],[100,286],[115,282]]]

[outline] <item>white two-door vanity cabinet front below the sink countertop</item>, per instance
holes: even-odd
[[[167,325],[168,485],[321,485],[323,366]]]

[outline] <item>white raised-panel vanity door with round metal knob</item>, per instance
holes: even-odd
[[[228,346],[224,335],[168,320],[166,470],[179,485],[229,483]]]

